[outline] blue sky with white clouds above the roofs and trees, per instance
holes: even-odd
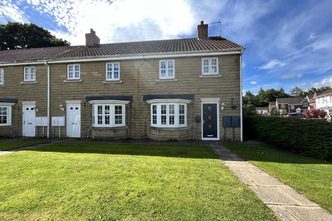
[[[331,0],[2,0],[0,23],[36,23],[80,45],[90,28],[111,43],[195,37],[199,21],[220,20],[223,37],[246,46],[243,90],[257,93],[332,86],[331,8]]]

